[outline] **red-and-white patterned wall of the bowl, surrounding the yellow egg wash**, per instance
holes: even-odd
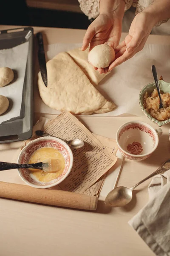
[[[65,159],[65,169],[62,174],[49,182],[41,182],[34,179],[28,169],[18,169],[21,179],[28,185],[35,188],[46,189],[61,183],[71,172],[73,166],[73,153],[70,147],[64,141],[54,137],[42,137],[28,143],[21,151],[17,163],[28,163],[31,155],[39,148],[52,147],[59,150]]]

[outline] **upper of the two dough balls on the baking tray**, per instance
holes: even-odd
[[[0,67],[0,87],[6,86],[14,79],[14,72],[9,67]]]

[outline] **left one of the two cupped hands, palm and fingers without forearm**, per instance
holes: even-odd
[[[119,44],[122,32],[122,21],[112,15],[100,14],[88,27],[83,38],[82,50],[88,48],[90,50],[99,44],[108,44],[116,48]],[[97,70],[96,67],[94,67]],[[108,68],[100,68],[99,73],[107,73]]]

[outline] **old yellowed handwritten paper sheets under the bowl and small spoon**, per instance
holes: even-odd
[[[92,134],[71,113],[64,111],[56,119],[40,118],[34,126],[64,140],[80,139],[85,146],[72,149],[73,168],[68,177],[57,188],[88,195],[98,195],[107,172],[116,163],[115,140]],[[37,136],[33,136],[34,140]],[[30,140],[27,140],[26,145]],[[23,146],[24,146],[23,145]]]

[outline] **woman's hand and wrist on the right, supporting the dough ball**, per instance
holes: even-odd
[[[111,71],[114,67],[132,58],[137,52],[141,51],[150,35],[156,19],[147,12],[137,14],[131,23],[129,34],[125,40],[115,49],[116,58],[108,67]]]

